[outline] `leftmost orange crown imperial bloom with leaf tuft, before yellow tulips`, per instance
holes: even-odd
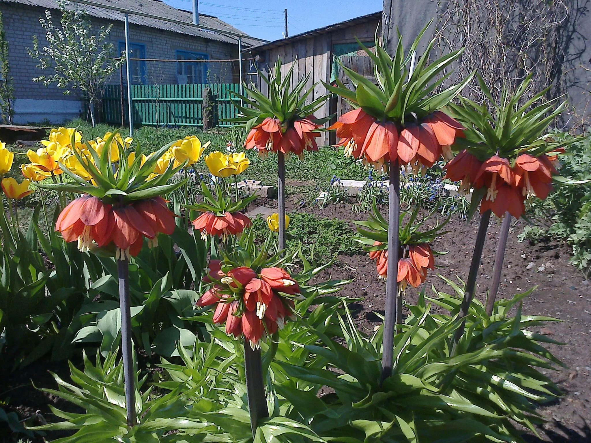
[[[75,134],[72,135],[74,138]],[[118,142],[121,136],[113,133],[103,141],[100,152],[85,142],[87,155],[77,149],[76,171],[61,165],[63,171],[73,178],[73,183],[37,184],[41,188],[59,189],[76,194],[76,198],[60,213],[56,222],[66,242],[78,242],[78,248],[89,251],[95,247],[115,246],[117,259],[137,256],[144,237],[149,246],[157,245],[158,233],[172,234],[176,223],[174,214],[160,194],[174,191],[180,183],[167,184],[168,178],[183,165],[167,171],[157,178],[147,180],[158,159],[168,150],[164,146],[150,158],[142,158],[136,152],[131,162],[125,155],[125,147]],[[117,149],[118,155],[113,155]],[[117,158],[113,162],[113,158]],[[92,179],[92,183],[87,181]]]

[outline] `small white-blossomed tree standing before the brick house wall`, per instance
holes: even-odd
[[[70,94],[72,89],[79,90],[89,101],[90,119],[95,126],[94,106],[102,95],[103,85],[124,60],[113,59],[113,44],[107,42],[112,25],[100,27],[95,34],[92,23],[84,19],[85,11],[76,7],[67,9],[67,3],[57,2],[61,10],[59,26],[54,24],[48,10],[46,17],[39,19],[46,31],[47,46],[40,45],[35,35],[29,55],[39,60],[37,67],[54,72],[35,77],[33,81],[46,86],[55,83],[64,89],[64,95]]]

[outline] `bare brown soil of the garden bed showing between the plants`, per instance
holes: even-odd
[[[297,186],[298,183],[291,185]],[[287,200],[287,212],[312,214],[319,219],[345,220],[352,229],[353,220],[366,218],[365,213],[353,213],[350,204],[329,205],[324,208],[309,204],[301,207],[302,200],[305,201],[306,196],[293,191]],[[257,206],[274,209],[277,207],[277,201],[258,198],[251,204],[251,208]],[[547,315],[562,320],[561,323],[547,323],[536,331],[554,340],[564,341],[565,346],[550,345],[550,351],[567,366],[560,372],[551,374],[551,378],[563,390],[564,397],[542,409],[543,416],[548,422],[543,425],[540,433],[544,439],[553,442],[587,442],[591,438],[587,425],[591,422],[591,286],[583,274],[570,265],[570,252],[567,246],[556,240],[518,242],[517,235],[523,225],[524,222],[519,221],[509,233],[499,297],[509,297],[538,285],[538,289],[525,299],[524,314]],[[437,273],[450,279],[455,279],[456,275],[467,275],[477,227],[478,216],[472,222],[452,216],[447,226],[451,232],[434,243],[435,249],[449,253],[439,257],[437,272],[429,273],[427,276],[427,296],[433,295],[430,289],[432,284],[440,291],[449,292],[449,286],[437,277]],[[477,290],[477,297],[481,301],[492,279],[499,228],[500,223],[491,222],[485,243]],[[342,234],[335,233],[335,236]],[[360,330],[371,334],[380,323],[376,313],[383,314],[385,306],[385,281],[378,278],[375,263],[369,260],[365,253],[340,254],[335,265],[319,276],[320,280],[330,278],[355,280],[345,286],[340,295],[360,299],[352,304],[355,322]],[[417,291],[409,288],[407,297],[409,302],[417,302]],[[57,372],[65,378],[69,373],[65,363],[47,361],[38,361],[25,370],[11,372],[9,368],[2,369],[2,392],[9,392],[10,399],[7,412],[15,411],[21,417],[34,417],[33,421],[36,423],[43,420],[53,421],[48,405],[64,405],[57,402],[53,396],[35,391],[31,385],[32,382],[35,386],[55,387],[47,370]],[[532,436],[528,441],[537,440]]]

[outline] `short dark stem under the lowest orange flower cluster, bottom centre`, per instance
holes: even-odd
[[[265,385],[262,381],[261,348],[253,349],[248,338],[244,339],[244,369],[248,412],[251,415],[251,429],[254,437],[259,419],[268,417],[269,410],[265,396]]]

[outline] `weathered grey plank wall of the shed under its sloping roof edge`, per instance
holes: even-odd
[[[267,74],[269,69],[275,66],[277,58],[281,58],[281,73],[285,75],[291,66],[294,65],[291,85],[295,86],[307,74],[310,77],[306,83],[306,90],[313,87],[313,92],[308,96],[307,101],[311,102],[320,96],[326,95],[327,90],[321,82],[330,81],[330,73],[333,64],[333,45],[341,43],[355,43],[355,37],[361,41],[373,41],[376,29],[381,25],[379,20],[363,22],[350,27],[337,29],[331,32],[316,35],[304,35],[301,38],[287,42],[277,47],[272,47],[264,53],[259,54],[259,69]],[[361,66],[361,73],[364,73],[364,66]],[[373,72],[368,72],[373,76]],[[263,93],[267,93],[265,82],[258,80],[258,87]],[[325,105],[314,113],[317,118],[323,118],[337,112],[336,100],[327,100]],[[334,137],[332,137],[334,139]],[[322,144],[329,144],[334,140],[329,139],[326,133],[320,138]]]

